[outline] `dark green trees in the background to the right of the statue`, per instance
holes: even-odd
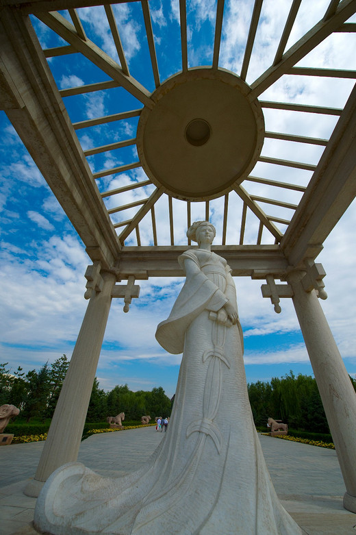
[[[350,377],[356,391],[356,381]],[[329,433],[327,417],[314,377],[297,377],[292,371],[270,382],[257,381],[248,385],[255,425],[266,426],[268,417],[282,420],[289,427],[318,433]]]

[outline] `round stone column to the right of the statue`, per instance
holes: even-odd
[[[344,477],[344,508],[356,513],[356,394],[315,290],[303,289],[304,275],[290,273],[288,282]]]

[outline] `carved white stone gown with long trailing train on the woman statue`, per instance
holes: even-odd
[[[190,249],[190,275],[156,337],[181,353],[166,436],[144,466],[110,479],[69,463],[46,482],[36,528],[55,535],[301,535],[272,486],[255,431],[237,325],[220,323],[236,290],[227,262]],[[118,452],[119,453],[119,452]]]

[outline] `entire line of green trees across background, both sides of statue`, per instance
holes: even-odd
[[[27,374],[19,366],[10,373],[7,364],[0,364],[0,406],[12,403],[21,410],[21,416],[28,422],[31,418],[41,420],[53,416],[60,395],[62,383],[69,366],[66,355],[53,364],[44,364],[39,371]],[[356,381],[351,377],[356,390]],[[257,427],[266,427],[269,416],[296,430],[329,433],[329,426],[316,385],[310,375],[289,375],[270,382],[257,381],[248,385],[253,419]],[[107,416],[125,412],[125,419],[140,420],[144,414],[170,416],[170,399],[162,386],[150,392],[132,392],[127,384],[115,386],[110,392],[99,388],[94,380],[87,414],[88,422],[104,421]]]

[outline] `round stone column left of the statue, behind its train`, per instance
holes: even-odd
[[[36,475],[25,488],[26,495],[37,497],[55,469],[77,460],[116,282],[112,273],[101,273],[101,277],[103,287],[99,292],[92,290]]]

